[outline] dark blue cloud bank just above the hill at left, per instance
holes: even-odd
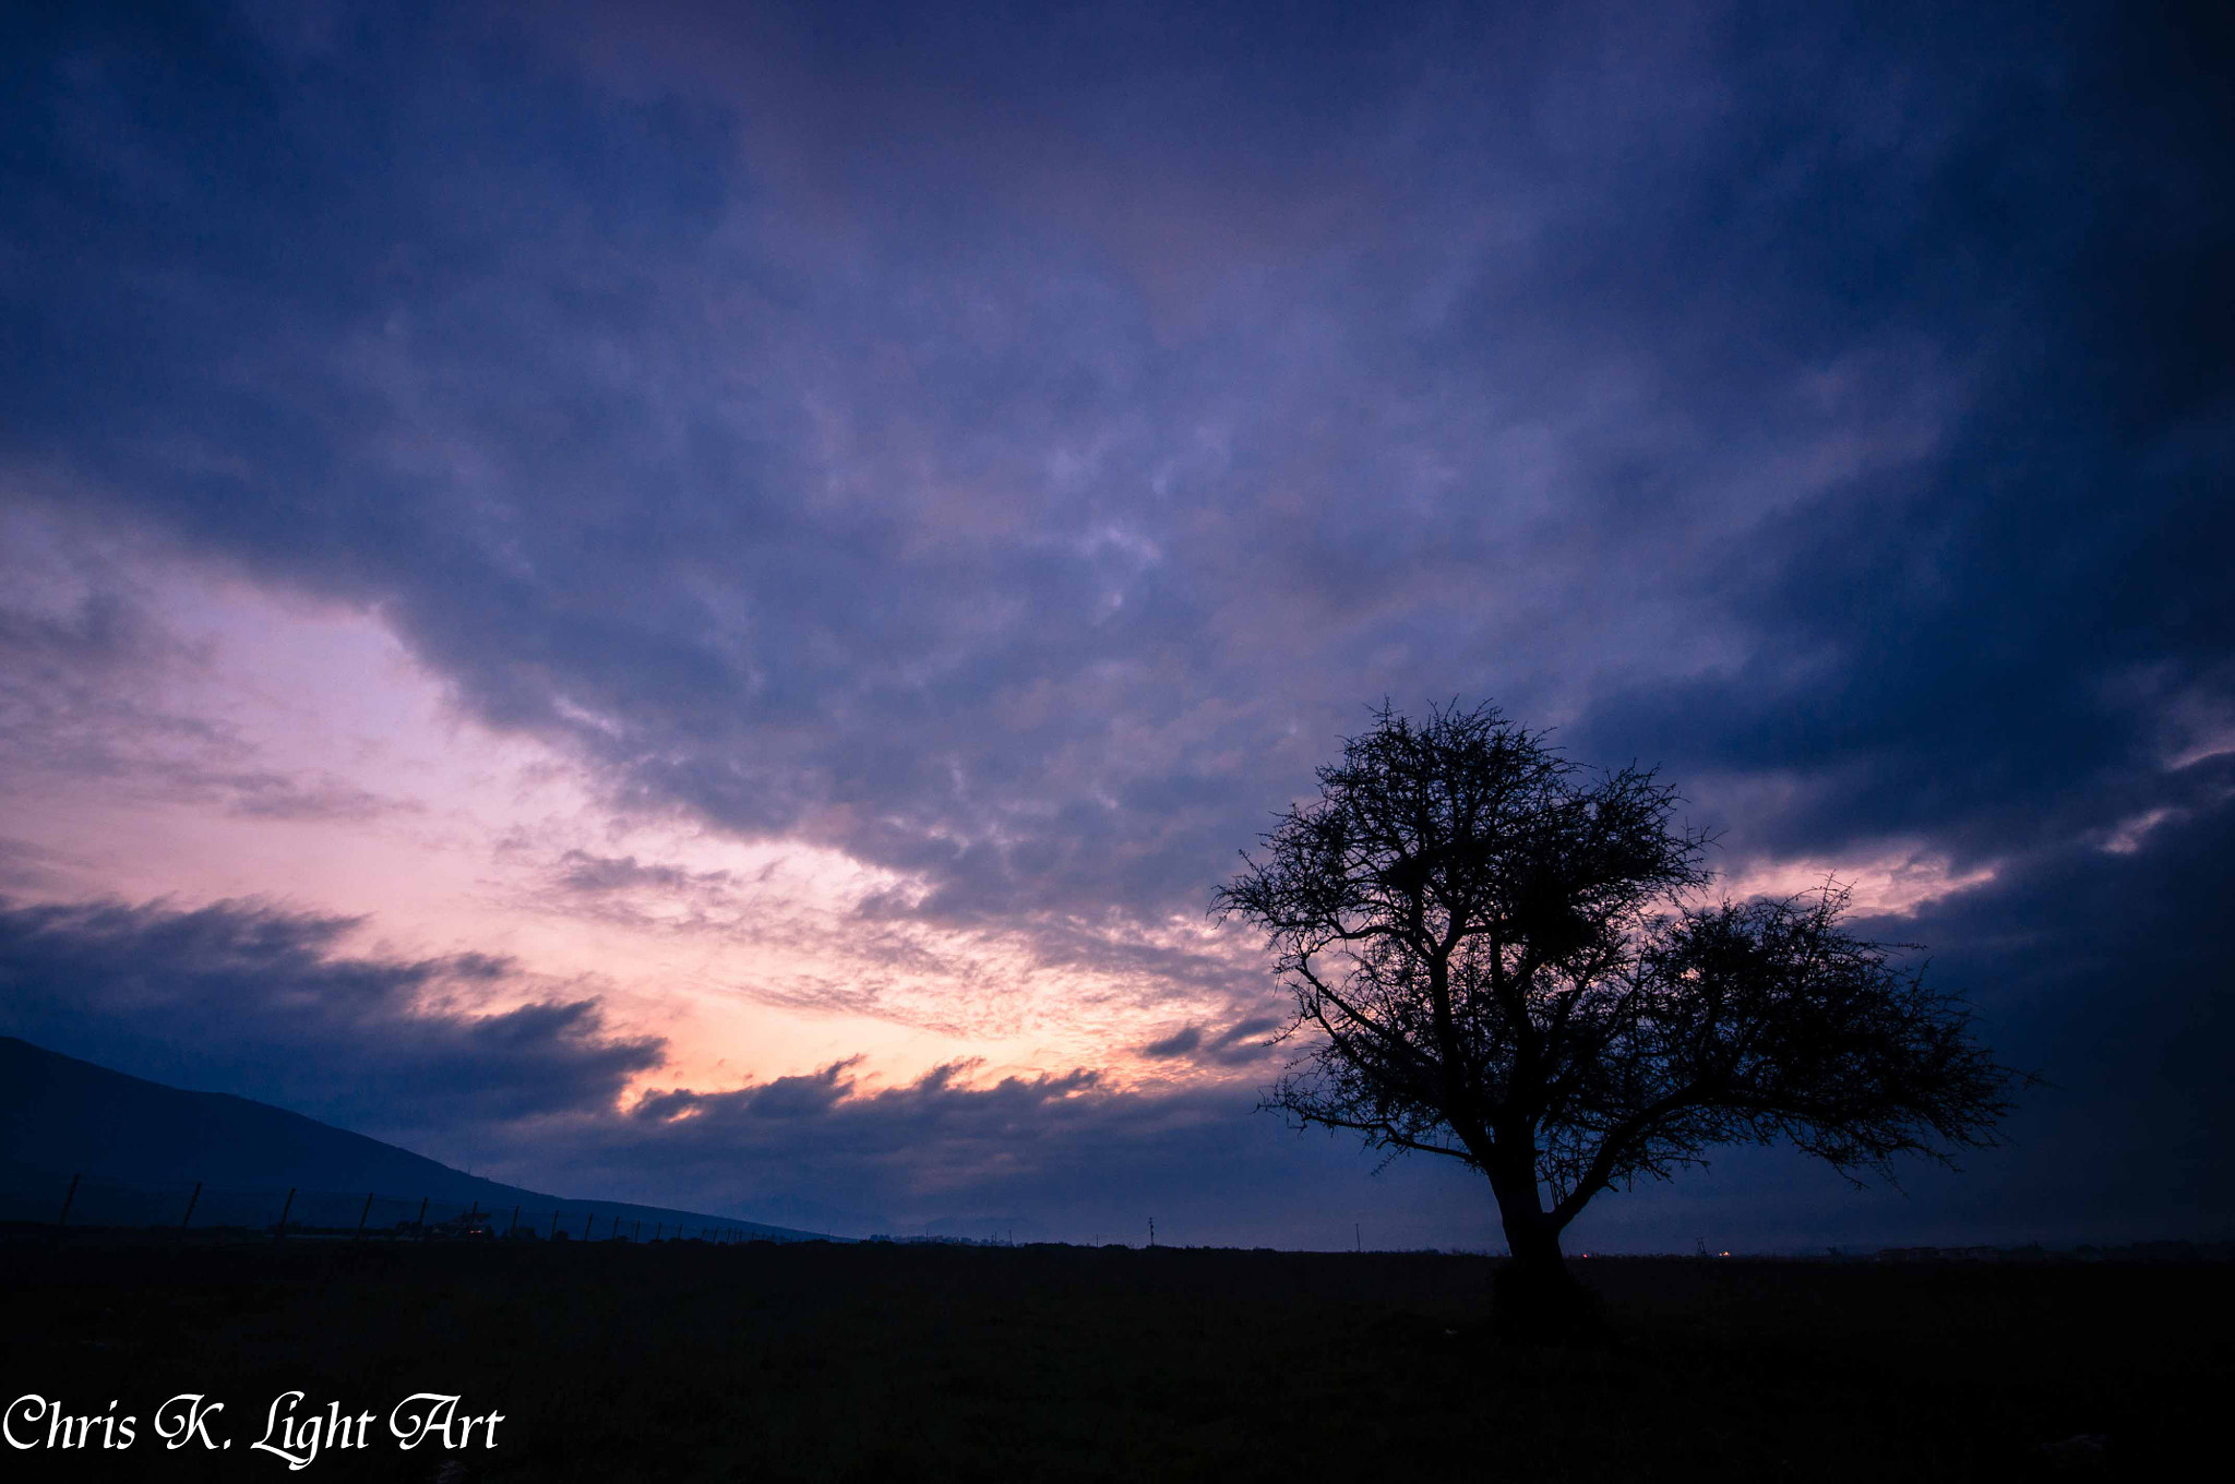
[[[40,1046],[405,1142],[610,1106],[662,1044],[483,954],[340,952],[351,919],[264,903],[0,903],[0,1024]],[[492,1001],[512,999],[507,1008]]]

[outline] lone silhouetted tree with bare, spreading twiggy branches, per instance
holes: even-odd
[[[1699,905],[1708,838],[1652,771],[1567,762],[1493,706],[1388,704],[1214,912],[1265,930],[1310,1048],[1265,1106],[1480,1169],[1513,1261],[1493,1321],[1591,1323],[1560,1234],[1714,1144],[1860,1185],[1991,1142],[2020,1077],[1965,1008],[1839,930],[1844,890]]]

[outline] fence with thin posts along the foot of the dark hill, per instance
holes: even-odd
[[[13,1176],[0,1187],[0,1225],[127,1231],[197,1231],[284,1240],[536,1240],[536,1243],[796,1243],[805,1234],[693,1218],[606,1200],[550,1207],[436,1200],[380,1191],[226,1189],[194,1180],[143,1182]]]

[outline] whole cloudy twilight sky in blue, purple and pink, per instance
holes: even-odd
[[[1368,708],[2038,1071],[1571,1249],[2235,1231],[2226,20],[0,18],[0,1033],[561,1193],[1495,1247],[1207,914]]]

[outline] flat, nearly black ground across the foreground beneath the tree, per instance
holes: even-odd
[[[1459,1256],[16,1240],[0,1399],[139,1437],[0,1477],[291,1477],[302,1390],[373,1412],[308,1480],[2161,1480],[2235,1379],[2226,1265],[1578,1267],[1611,1350],[1500,1350]],[[186,1392],[230,1450],[163,1448]],[[411,1392],[496,1448],[400,1450]]]

